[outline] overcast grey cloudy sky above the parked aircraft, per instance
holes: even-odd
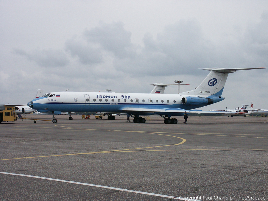
[[[38,89],[189,91],[211,67],[268,67],[267,0],[0,0],[1,104]],[[222,96],[202,110],[268,109],[268,69],[229,74]]]

